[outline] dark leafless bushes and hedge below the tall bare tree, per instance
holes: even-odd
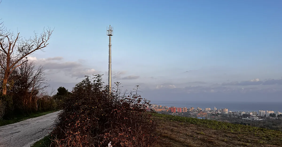
[[[0,111],[4,109],[3,113],[0,112],[1,118],[11,120],[32,113],[57,110],[57,101],[46,97],[48,93],[45,89],[49,84],[42,65],[36,67],[34,62],[26,62],[14,70],[10,80],[6,95],[0,96]]]

